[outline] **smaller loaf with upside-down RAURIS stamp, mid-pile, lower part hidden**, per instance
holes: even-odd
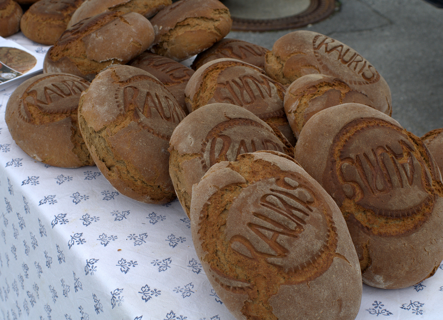
[[[254,113],[274,125],[295,145],[283,101],[286,88],[264,74],[264,70],[237,59],[205,63],[189,79],[185,101],[189,112],[208,103],[230,103]]]

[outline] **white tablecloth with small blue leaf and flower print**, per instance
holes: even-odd
[[[4,122],[15,88],[0,91],[0,319],[233,320],[201,268],[180,203],[139,203],[97,167],[27,156]],[[409,288],[363,285],[357,319],[443,319],[442,301],[443,264]]]

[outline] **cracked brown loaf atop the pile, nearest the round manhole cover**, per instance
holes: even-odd
[[[196,55],[231,30],[229,9],[218,0],[180,0],[152,19],[152,52],[181,61]]]

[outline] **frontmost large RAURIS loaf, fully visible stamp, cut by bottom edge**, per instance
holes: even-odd
[[[193,190],[195,250],[238,319],[354,320],[361,274],[346,223],[299,165],[268,152],[210,168]]]

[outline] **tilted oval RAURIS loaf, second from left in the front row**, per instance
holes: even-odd
[[[97,168],[121,194],[145,203],[175,198],[167,148],[184,117],[171,92],[133,66],[97,74],[78,105],[80,130]]]

